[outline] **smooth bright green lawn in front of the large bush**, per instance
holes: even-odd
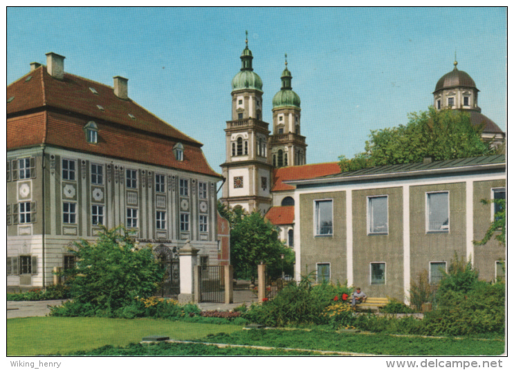
[[[7,320],[7,355],[34,356],[126,346],[147,335],[193,340],[208,334],[233,333],[242,327],[154,319],[15,318]]]

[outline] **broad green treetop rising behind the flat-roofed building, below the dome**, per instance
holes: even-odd
[[[493,154],[481,139],[483,126],[473,126],[470,115],[460,110],[436,110],[410,113],[409,123],[394,128],[371,130],[365,152],[352,159],[339,157],[342,172],[361,168],[434,160],[477,157]]]

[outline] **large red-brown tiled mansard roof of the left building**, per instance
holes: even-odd
[[[26,81],[28,76],[32,78]],[[7,104],[8,150],[44,143],[219,177],[206,161],[201,143],[134,101],[119,99],[109,86],[67,73],[59,81],[43,66],[8,86],[7,96],[14,97]],[[37,109],[42,111],[31,113]],[[86,142],[84,126],[91,119],[98,126],[98,144]],[[183,161],[176,161],[173,154],[177,142],[184,146]]]

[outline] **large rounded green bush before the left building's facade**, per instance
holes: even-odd
[[[110,230],[102,226],[98,240],[80,240],[75,247],[77,266],[70,282],[73,304],[113,313],[136,296],[149,297],[163,280],[152,248],[138,246],[122,226]]]

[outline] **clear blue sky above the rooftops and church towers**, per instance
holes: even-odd
[[[51,51],[74,75],[127,77],[129,97],[203,142],[221,172],[245,30],[264,121],[288,55],[307,163],[351,157],[369,130],[426,110],[455,51],[482,113],[506,129],[505,8],[8,8],[7,84]]]

